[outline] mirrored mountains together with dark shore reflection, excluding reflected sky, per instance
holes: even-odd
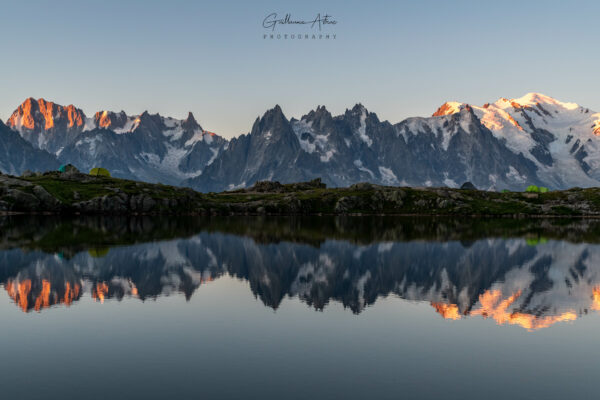
[[[600,310],[600,221],[379,217],[0,219],[0,283],[25,312],[183,294],[229,275],[265,306],[354,313],[383,296],[528,330]]]

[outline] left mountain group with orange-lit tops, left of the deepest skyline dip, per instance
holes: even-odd
[[[83,171],[104,166],[116,177],[179,184],[202,173],[226,140],[202,129],[192,113],[183,120],[124,111],[88,118],[74,106],[27,99],[9,126],[35,147]]]

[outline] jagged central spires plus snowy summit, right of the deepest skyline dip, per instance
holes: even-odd
[[[600,114],[536,93],[482,107],[445,103],[395,125],[360,104],[339,116],[318,107],[300,120],[275,107],[186,184],[219,191],[321,177],[330,186],[596,186],[598,133]]]

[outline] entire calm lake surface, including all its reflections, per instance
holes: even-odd
[[[600,221],[0,218],[18,399],[596,398]]]

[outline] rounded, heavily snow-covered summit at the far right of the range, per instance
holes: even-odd
[[[460,113],[464,103],[446,103],[434,116]],[[536,166],[537,177],[555,188],[597,186],[600,180],[600,113],[575,103],[528,93],[471,106],[482,125],[515,154]]]

